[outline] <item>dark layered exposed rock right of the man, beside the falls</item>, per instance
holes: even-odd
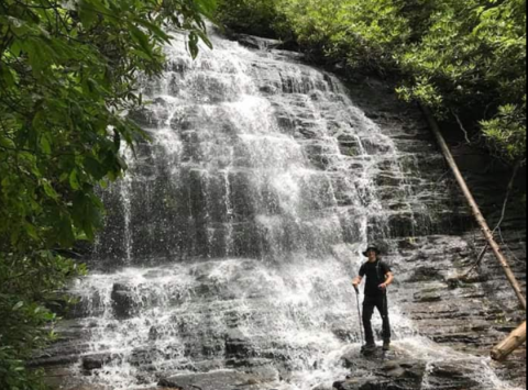
[[[450,174],[446,167],[436,170],[439,166],[433,161],[441,161],[442,157],[420,112],[400,105],[389,93],[380,93],[382,90],[386,90],[386,86],[370,79],[361,89],[351,88],[350,92],[354,102],[370,118],[383,129],[392,129],[392,137],[399,149],[411,151],[414,158],[420,161],[421,175],[437,176],[439,183],[449,181]],[[404,118],[410,119],[414,124],[407,123]],[[463,141],[450,135],[454,133],[453,129],[444,130],[448,141],[452,141],[453,154],[470,188],[490,225],[495,226],[502,216],[510,172],[499,166],[495,166],[493,172],[488,171],[486,167],[491,166],[491,161],[481,151],[461,147]],[[426,141],[431,149],[427,151],[429,146],[424,151],[415,149],[411,145],[417,145],[416,140]],[[479,164],[468,164],[475,156],[480,158]],[[517,186],[526,188],[526,181],[518,180]],[[414,321],[420,334],[455,350],[488,357],[491,348],[524,321],[522,315],[493,253],[488,252],[482,266],[466,275],[485,246],[485,241],[469,215],[458,188],[443,188],[440,203],[450,211],[444,214],[446,220],[439,231],[418,230],[411,236],[387,241],[389,253],[385,255],[385,260],[393,266],[397,276],[391,290],[392,301],[398,302],[402,313]],[[420,199],[430,204],[437,198],[426,192]],[[394,197],[388,197],[386,202],[394,202]],[[437,209],[438,205],[430,204]],[[517,279],[525,288],[526,219],[519,218],[524,214],[525,211],[510,204],[499,238]],[[438,232],[448,232],[448,235],[429,235]],[[495,365],[494,369],[501,378],[526,388],[525,358],[526,349],[521,349],[512,356],[508,364]],[[440,383],[436,386],[442,388]],[[436,386],[432,388],[436,389]]]

